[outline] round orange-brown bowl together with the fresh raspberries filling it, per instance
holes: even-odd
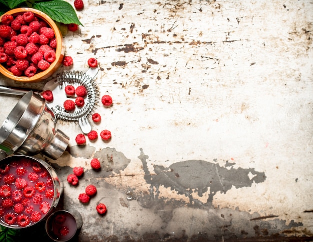
[[[34,8],[11,9],[0,16],[0,72],[15,81],[48,78],[64,57],[55,22]]]

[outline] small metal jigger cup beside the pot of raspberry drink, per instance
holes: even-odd
[[[81,215],[76,210],[57,210],[45,222],[48,237],[55,242],[71,240],[82,226]]]

